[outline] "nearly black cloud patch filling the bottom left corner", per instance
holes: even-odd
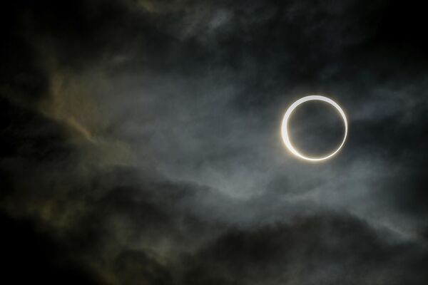
[[[16,283],[98,284],[98,280],[55,240],[35,229],[29,221],[17,222],[1,214],[2,271],[4,280]]]

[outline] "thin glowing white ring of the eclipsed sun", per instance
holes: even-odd
[[[335,107],[339,111],[340,115],[342,115],[343,123],[345,123],[345,135],[343,136],[342,143],[340,144],[339,147],[337,147],[337,150],[331,152],[329,155],[324,157],[307,157],[305,155],[302,155],[292,145],[290,141],[290,136],[288,134],[288,119],[290,118],[290,115],[292,114],[292,112],[295,110],[295,108],[297,108],[298,105],[305,103],[307,101],[312,101],[312,100],[320,100],[320,101],[327,102],[330,105],[333,105],[333,107]],[[299,100],[295,101],[295,103],[292,103],[290,108],[288,108],[287,111],[285,112],[284,118],[282,119],[282,140],[284,140],[285,146],[288,148],[288,150],[290,150],[290,152],[292,152],[293,155],[300,157],[303,160],[310,160],[310,161],[327,160],[327,158],[330,158],[333,155],[335,155],[337,152],[339,152],[339,150],[345,144],[346,137],[347,137],[347,119],[346,119],[345,112],[343,112],[342,108],[340,108],[340,106],[337,105],[335,101],[325,96],[309,95],[309,96],[300,98]]]

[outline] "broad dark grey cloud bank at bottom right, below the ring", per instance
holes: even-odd
[[[186,284],[423,284],[427,278],[418,272],[427,259],[417,248],[385,244],[367,224],[335,214],[229,232],[193,262]]]

